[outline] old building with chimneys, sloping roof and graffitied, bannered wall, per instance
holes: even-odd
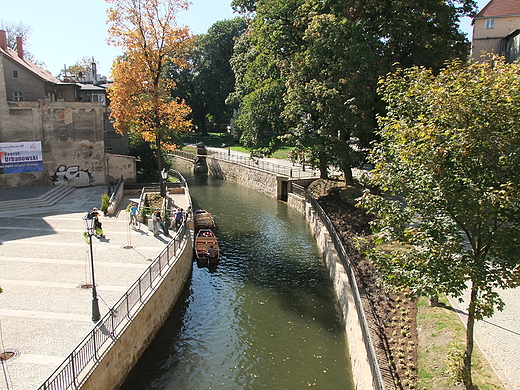
[[[116,176],[119,171],[108,166],[106,153],[121,150],[105,145],[110,125],[106,99],[99,95],[105,96],[103,88],[63,82],[45,72],[24,58],[21,39],[17,50],[12,50],[5,31],[0,30],[0,161],[4,158],[0,187],[49,185],[56,180],[96,185],[107,183],[109,173]],[[110,136],[119,147],[121,136]],[[14,159],[8,159],[9,150],[29,143],[35,149],[41,145],[39,165],[10,166]],[[135,162],[128,159],[126,168],[131,170]]]

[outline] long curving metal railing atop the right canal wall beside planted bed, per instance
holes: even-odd
[[[367,319],[365,316],[365,311],[363,310],[363,303],[361,302],[361,296],[359,295],[359,289],[356,282],[356,276],[354,274],[354,267],[352,266],[352,263],[350,262],[349,256],[347,255],[347,251],[345,250],[345,246],[343,245],[343,242],[341,241],[340,235],[338,234],[338,231],[336,230],[336,227],[330,220],[329,216],[325,213],[325,211],[322,209],[320,204],[314,197],[302,186],[298,184],[292,185],[293,193],[296,195],[302,196],[305,198],[314,208],[314,211],[317,213],[318,217],[320,218],[321,222],[325,227],[327,228],[327,231],[329,232],[329,235],[332,239],[332,242],[334,244],[334,248],[336,249],[336,252],[338,253],[338,256],[340,258],[341,264],[345,268],[345,271],[347,272],[347,276],[349,279],[350,287],[352,288],[353,298],[356,303],[356,311],[359,317],[359,323],[361,325],[361,332],[363,334],[363,342],[365,344],[365,348],[368,353],[368,362],[370,364],[370,368],[372,370],[372,381],[374,388],[378,390],[384,390],[384,382],[383,377],[381,376],[381,370],[379,369],[379,364],[377,362],[377,356],[374,349],[374,344],[372,343],[372,337],[370,336],[370,330],[368,327]]]

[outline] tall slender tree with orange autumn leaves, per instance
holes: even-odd
[[[165,75],[167,64],[186,66],[193,38],[187,27],[177,25],[176,15],[186,10],[184,0],[106,0],[110,43],[124,54],[112,67],[108,89],[111,120],[119,133],[140,133],[155,145],[159,171],[161,149],[168,140],[191,127],[191,110],[172,98],[175,82]],[[161,179],[162,180],[162,179]]]

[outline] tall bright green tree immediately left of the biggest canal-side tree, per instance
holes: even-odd
[[[241,143],[253,156],[271,154],[288,133],[283,98],[291,59],[303,43],[303,3],[272,0],[256,5],[248,31],[235,46],[236,91],[228,102],[240,106],[233,131],[241,134]]]

